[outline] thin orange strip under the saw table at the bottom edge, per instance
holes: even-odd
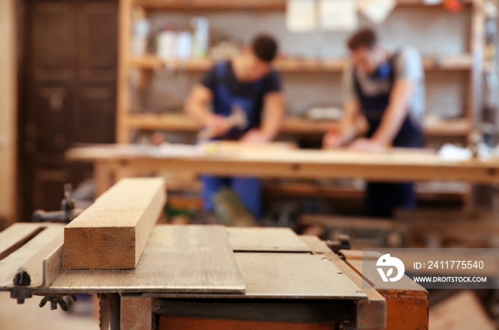
[[[302,324],[267,321],[235,321],[197,319],[194,317],[160,316],[160,330],[334,330],[334,324]]]

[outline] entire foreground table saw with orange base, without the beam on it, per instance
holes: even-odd
[[[52,307],[97,293],[101,329],[113,330],[428,326],[428,292],[411,279],[363,283],[361,252],[336,254],[287,228],[156,225],[135,269],[110,270],[63,269],[63,227],[19,223],[0,233],[0,291]],[[31,284],[13,284],[19,267]]]

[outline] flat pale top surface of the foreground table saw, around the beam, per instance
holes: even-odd
[[[284,228],[157,225],[137,267],[117,270],[62,269],[62,225],[16,224],[1,233],[2,247],[11,249],[30,234],[36,235],[0,261],[0,289],[11,289],[24,267],[34,292],[366,299],[334,262],[312,255]]]

